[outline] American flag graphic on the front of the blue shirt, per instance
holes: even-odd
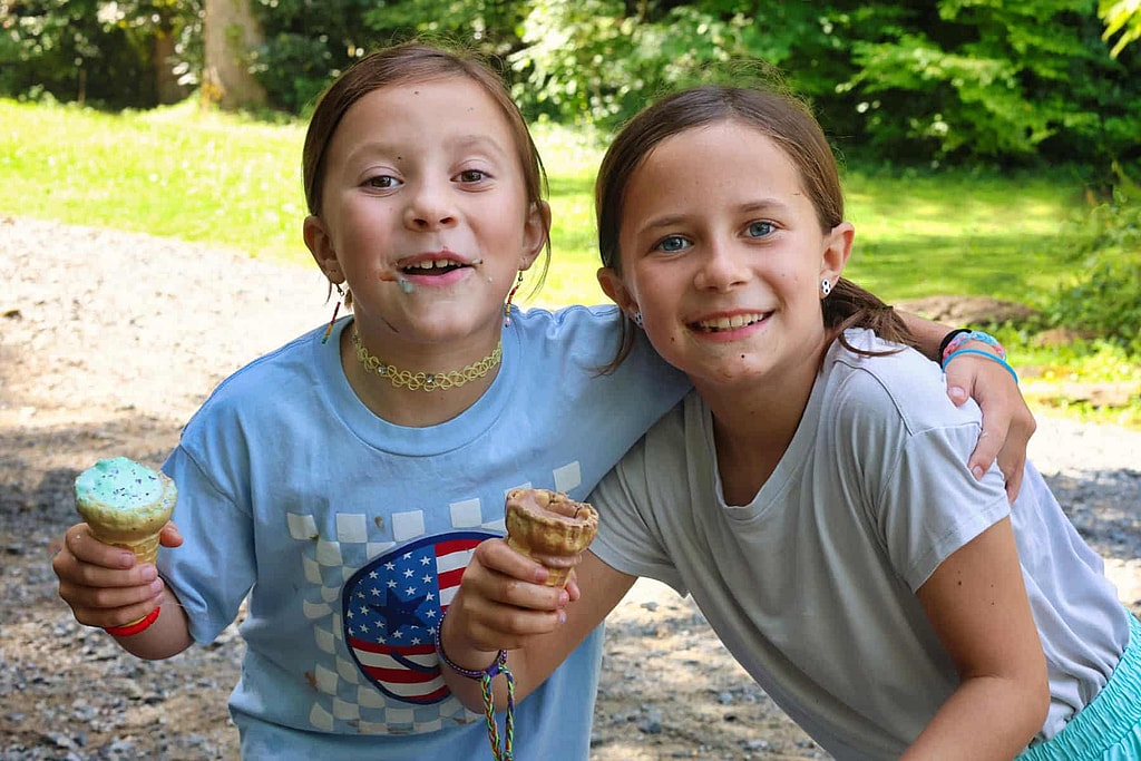
[[[371,560],[345,584],[345,641],[385,695],[421,705],[448,696],[436,628],[476,545],[494,536],[469,531],[420,539]]]

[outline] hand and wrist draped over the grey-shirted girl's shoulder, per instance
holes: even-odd
[[[906,311],[897,313],[915,337],[919,348],[929,359],[939,362],[939,342],[949,330],[946,325],[923,319]],[[966,348],[993,351],[990,347],[970,341]],[[997,458],[1006,478],[1006,496],[1011,502],[1022,486],[1026,445],[1037,423],[1018,389],[1018,383],[996,362],[979,356],[963,356],[947,366],[947,396],[955,404],[973,398],[982,410],[982,432],[968,467],[976,478],[982,478]]]

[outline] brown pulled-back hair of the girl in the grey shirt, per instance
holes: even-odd
[[[607,149],[594,183],[602,266],[622,273],[618,232],[626,186],[633,172],[662,141],[686,130],[723,121],[755,129],[784,151],[816,209],[820,229],[828,232],[843,221],[844,197],[836,160],[807,104],[786,92],[762,87],[698,86],[666,96],[640,112],[622,128]],[[824,299],[823,310],[825,326],[851,350],[857,349],[844,340],[843,330],[852,326],[871,327],[891,341],[914,342],[890,306],[851,281],[840,278]],[[607,370],[616,367],[630,353],[636,330],[629,319],[623,321],[622,345]]]

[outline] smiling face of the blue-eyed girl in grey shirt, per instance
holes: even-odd
[[[775,371],[802,378],[828,338],[820,281],[836,282],[851,237],[847,222],[822,230],[770,138],[717,121],[658,143],[634,170],[617,235],[622,274],[601,278],[699,389]]]

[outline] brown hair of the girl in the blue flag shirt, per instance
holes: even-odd
[[[428,82],[450,78],[467,78],[482,87],[499,105],[507,118],[519,154],[528,204],[540,204],[547,196],[547,171],[527,122],[511,99],[503,80],[488,62],[476,52],[408,41],[372,52],[356,62],[330,84],[317,100],[309,129],[305,135],[301,167],[305,180],[305,200],[309,213],[321,216],[322,192],[325,185],[325,152],[346,112],[357,100],[373,90],[396,84]],[[551,243],[548,224],[543,269],[539,282],[550,266]]]

